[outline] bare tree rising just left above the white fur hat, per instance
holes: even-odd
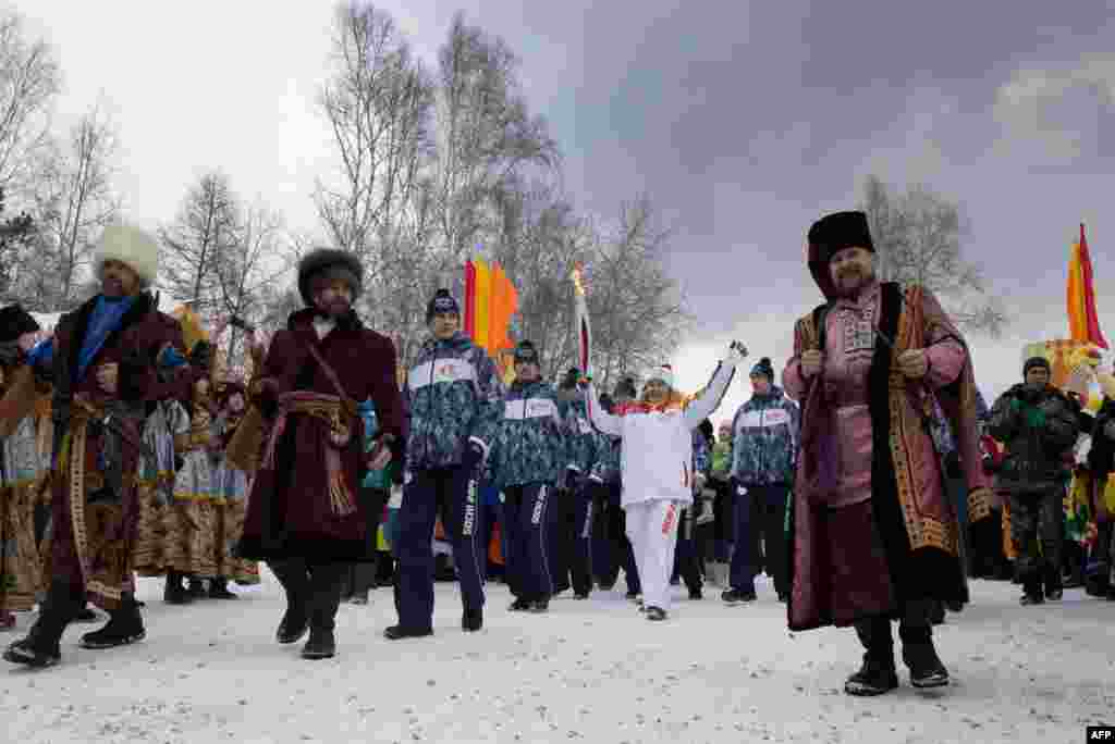
[[[67,141],[40,160],[35,204],[50,304],[79,302],[96,233],[113,222],[120,203],[112,189],[116,134],[99,109],[83,116]]]

